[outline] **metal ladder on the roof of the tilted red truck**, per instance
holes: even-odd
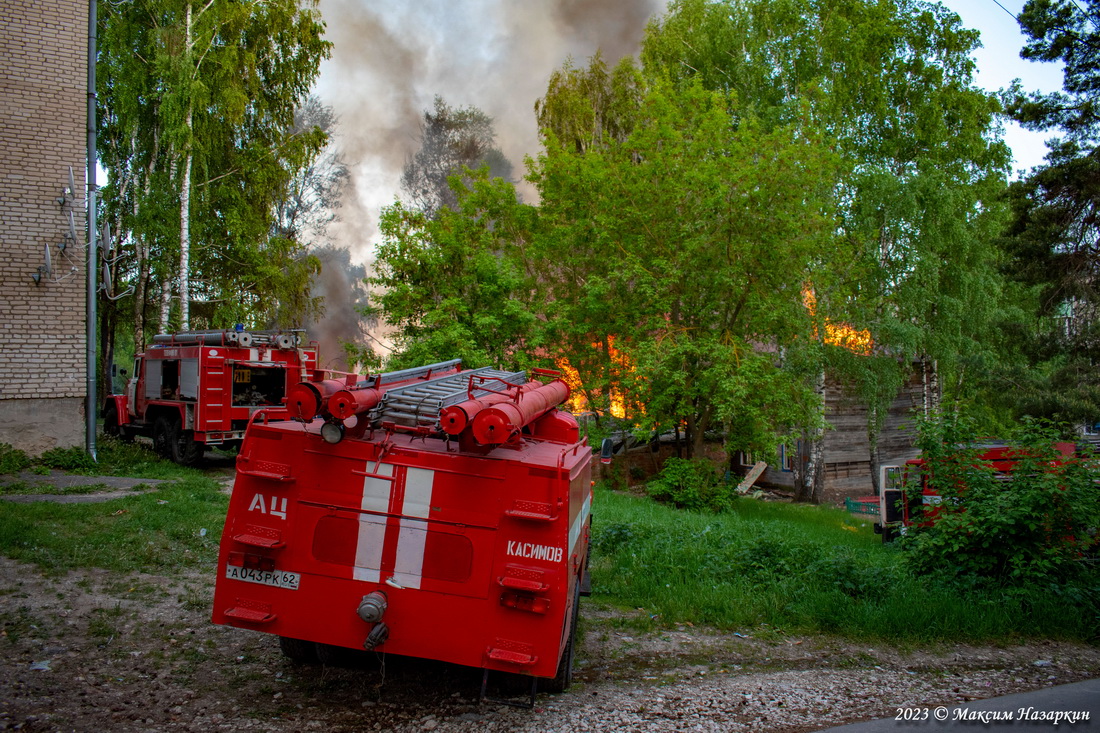
[[[438,426],[439,411],[470,398],[470,380],[473,379],[474,397],[499,392],[501,382],[525,384],[527,372],[505,372],[492,366],[472,369],[458,374],[440,376],[387,390],[378,406],[371,411],[371,423],[393,423],[404,427]],[[499,381],[497,381],[499,380]],[[490,389],[479,389],[487,382]]]

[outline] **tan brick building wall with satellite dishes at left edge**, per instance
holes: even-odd
[[[88,3],[0,0],[0,442],[38,453],[84,442]]]

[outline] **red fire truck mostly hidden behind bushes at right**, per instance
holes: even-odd
[[[969,448],[979,451],[977,460],[988,463],[999,480],[1008,480],[1020,460],[1019,446],[985,442]],[[1076,450],[1071,442],[1056,442],[1055,448],[1066,458],[1074,456]],[[923,458],[908,460],[903,466],[883,466],[880,475],[879,485],[882,491],[879,495],[879,521],[875,523],[875,534],[882,535],[883,543],[904,534],[915,522],[935,521],[935,507],[943,497],[936,491],[928,464]],[[908,492],[906,486],[910,488]],[[920,507],[924,507],[923,512],[919,512]]]

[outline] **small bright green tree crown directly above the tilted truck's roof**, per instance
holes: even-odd
[[[534,352],[536,315],[516,256],[534,211],[487,168],[452,178],[459,209],[437,218],[396,203],[382,215],[372,285],[377,315],[396,327],[399,369],[461,358],[466,366],[517,365]]]

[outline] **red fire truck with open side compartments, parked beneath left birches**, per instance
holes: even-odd
[[[107,397],[103,429],[151,437],[162,456],[194,464],[207,446],[239,446],[257,411],[276,417],[316,364],[295,331],[162,333],[134,358],[127,393]]]

